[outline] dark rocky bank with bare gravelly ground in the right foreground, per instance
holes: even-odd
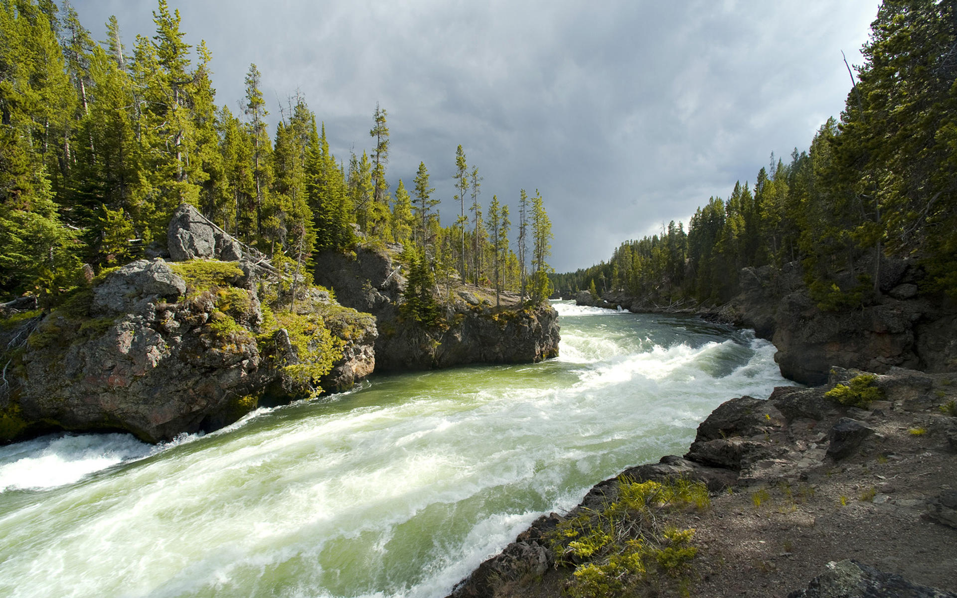
[[[830,377],[724,403],[687,454],[626,470],[536,520],[451,596],[955,596],[957,377]],[[569,532],[582,518],[627,520],[621,505],[641,482],[675,479],[701,481],[708,499],[658,505],[657,524],[685,530],[671,538],[687,544],[657,560],[629,568],[610,543]],[[629,532],[634,546],[651,542],[647,531]],[[617,581],[603,577],[612,569]]]

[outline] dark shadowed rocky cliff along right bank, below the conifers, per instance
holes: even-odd
[[[944,296],[918,293],[923,273],[909,260],[881,263],[880,293],[853,309],[826,311],[812,299],[800,264],[741,271],[741,294],[719,307],[687,301],[654,304],[623,293],[602,299],[579,294],[579,304],[634,312],[699,314],[754,328],[774,343],[781,374],[803,384],[827,381],[832,365],[886,372],[911,367],[928,372],[957,369],[957,306]],[[848,281],[844,286],[850,286]]]

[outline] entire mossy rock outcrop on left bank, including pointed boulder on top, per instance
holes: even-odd
[[[6,310],[0,441],[48,430],[168,440],[371,372],[372,317],[304,281],[294,299],[261,255],[189,206],[169,231],[170,254],[188,261],[126,264],[49,313]]]

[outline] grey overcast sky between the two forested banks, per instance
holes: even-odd
[[[371,147],[389,112],[389,182],[432,174],[448,224],[456,146],[514,206],[541,190],[558,272],[687,220],[711,195],[789,159],[838,116],[876,0],[190,0],[186,41],[205,39],[216,100],[236,111],[250,63],[278,122],[305,96],[333,153]],[[97,39],[115,14],[127,48],[152,35],[155,2],[74,0]],[[513,211],[514,213],[514,211]]]

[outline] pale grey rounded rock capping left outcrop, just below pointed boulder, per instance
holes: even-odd
[[[157,257],[140,259],[106,275],[93,289],[90,313],[115,316],[142,311],[159,299],[176,300],[186,293],[186,282]]]

